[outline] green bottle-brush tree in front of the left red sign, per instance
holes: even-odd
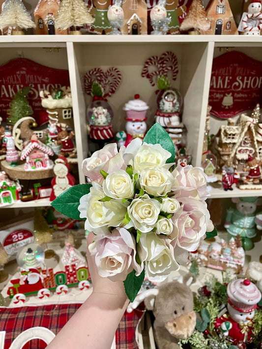
[[[19,90],[13,97],[10,109],[7,110],[8,118],[7,122],[10,125],[15,125],[15,123],[22,117],[28,117],[30,106],[28,102],[28,94],[31,86],[27,86]]]

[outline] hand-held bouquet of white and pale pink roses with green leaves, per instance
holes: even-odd
[[[175,147],[158,123],[144,141],[117,151],[107,144],[83,161],[88,184],[71,187],[52,203],[86,219],[95,234],[89,251],[101,276],[122,280],[131,301],[146,276],[163,281],[206,237],[215,235],[199,167],[174,166]],[[175,168],[174,168],[175,167]]]

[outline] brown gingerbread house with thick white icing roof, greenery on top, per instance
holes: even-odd
[[[63,130],[67,127],[74,129],[70,87],[61,87],[59,91],[53,93],[41,90],[39,96],[50,121],[55,121]]]

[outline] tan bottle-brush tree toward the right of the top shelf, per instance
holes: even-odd
[[[209,27],[210,21],[206,18],[202,0],[193,0],[181,23],[180,31],[188,31],[189,34],[203,34]]]

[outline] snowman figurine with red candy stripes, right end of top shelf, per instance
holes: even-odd
[[[244,35],[260,35],[262,29],[261,0],[252,0],[248,6],[248,13],[241,21]]]

